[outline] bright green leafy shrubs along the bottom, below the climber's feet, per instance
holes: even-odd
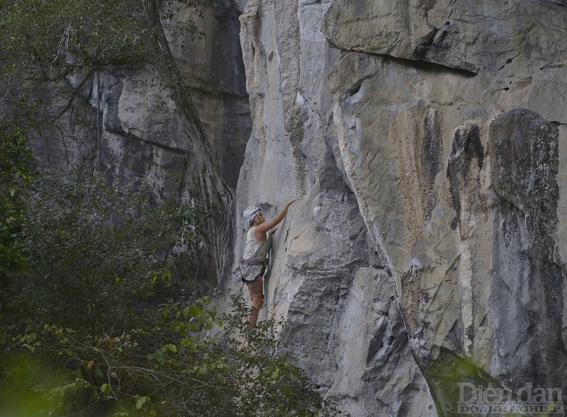
[[[277,353],[275,335],[266,336],[272,321],[249,326],[244,305],[219,315],[208,298],[161,312],[154,326],[117,336],[45,326],[35,354],[11,362],[0,412],[33,392],[37,415],[330,415],[305,373]]]

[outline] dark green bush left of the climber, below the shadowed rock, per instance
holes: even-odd
[[[164,258],[182,222],[193,227],[189,246],[207,236],[191,217],[200,207],[153,205],[135,184],[107,187],[101,178],[62,181],[43,176],[30,185],[30,205],[18,246],[26,275],[12,284],[12,324],[20,312],[91,334],[123,329],[147,307],[159,287],[173,285]]]

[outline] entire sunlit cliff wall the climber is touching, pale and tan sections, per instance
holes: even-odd
[[[567,4],[249,0],[240,20],[237,212],[301,197],[264,314],[322,392],[352,416],[451,416],[463,384],[567,393]]]

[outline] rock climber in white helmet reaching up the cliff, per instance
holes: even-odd
[[[248,265],[242,282],[248,287],[252,308],[248,315],[248,322],[252,326],[256,325],[259,309],[264,302],[264,272],[266,272],[266,256],[270,250],[268,233],[276,232],[274,227],[286,217],[289,206],[297,198],[292,198],[286,202],[285,207],[273,219],[266,221],[264,214],[259,207],[248,207],[244,211],[244,218],[250,227],[247,233],[246,246],[242,255],[242,263]],[[272,230],[273,229],[273,230]]]

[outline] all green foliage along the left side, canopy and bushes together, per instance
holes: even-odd
[[[187,295],[214,207],[155,205],[139,185],[101,178],[28,183],[26,135],[14,122],[40,130],[46,115],[69,108],[44,104],[38,87],[71,105],[101,67],[149,63],[179,92],[165,35],[200,35],[176,21],[176,8],[199,16],[210,3],[0,3],[0,110],[10,115],[0,123],[0,415],[326,412],[316,387],[281,353],[273,321],[251,327],[240,299],[234,313],[219,314],[211,299]],[[69,76],[74,83],[64,82]]]

